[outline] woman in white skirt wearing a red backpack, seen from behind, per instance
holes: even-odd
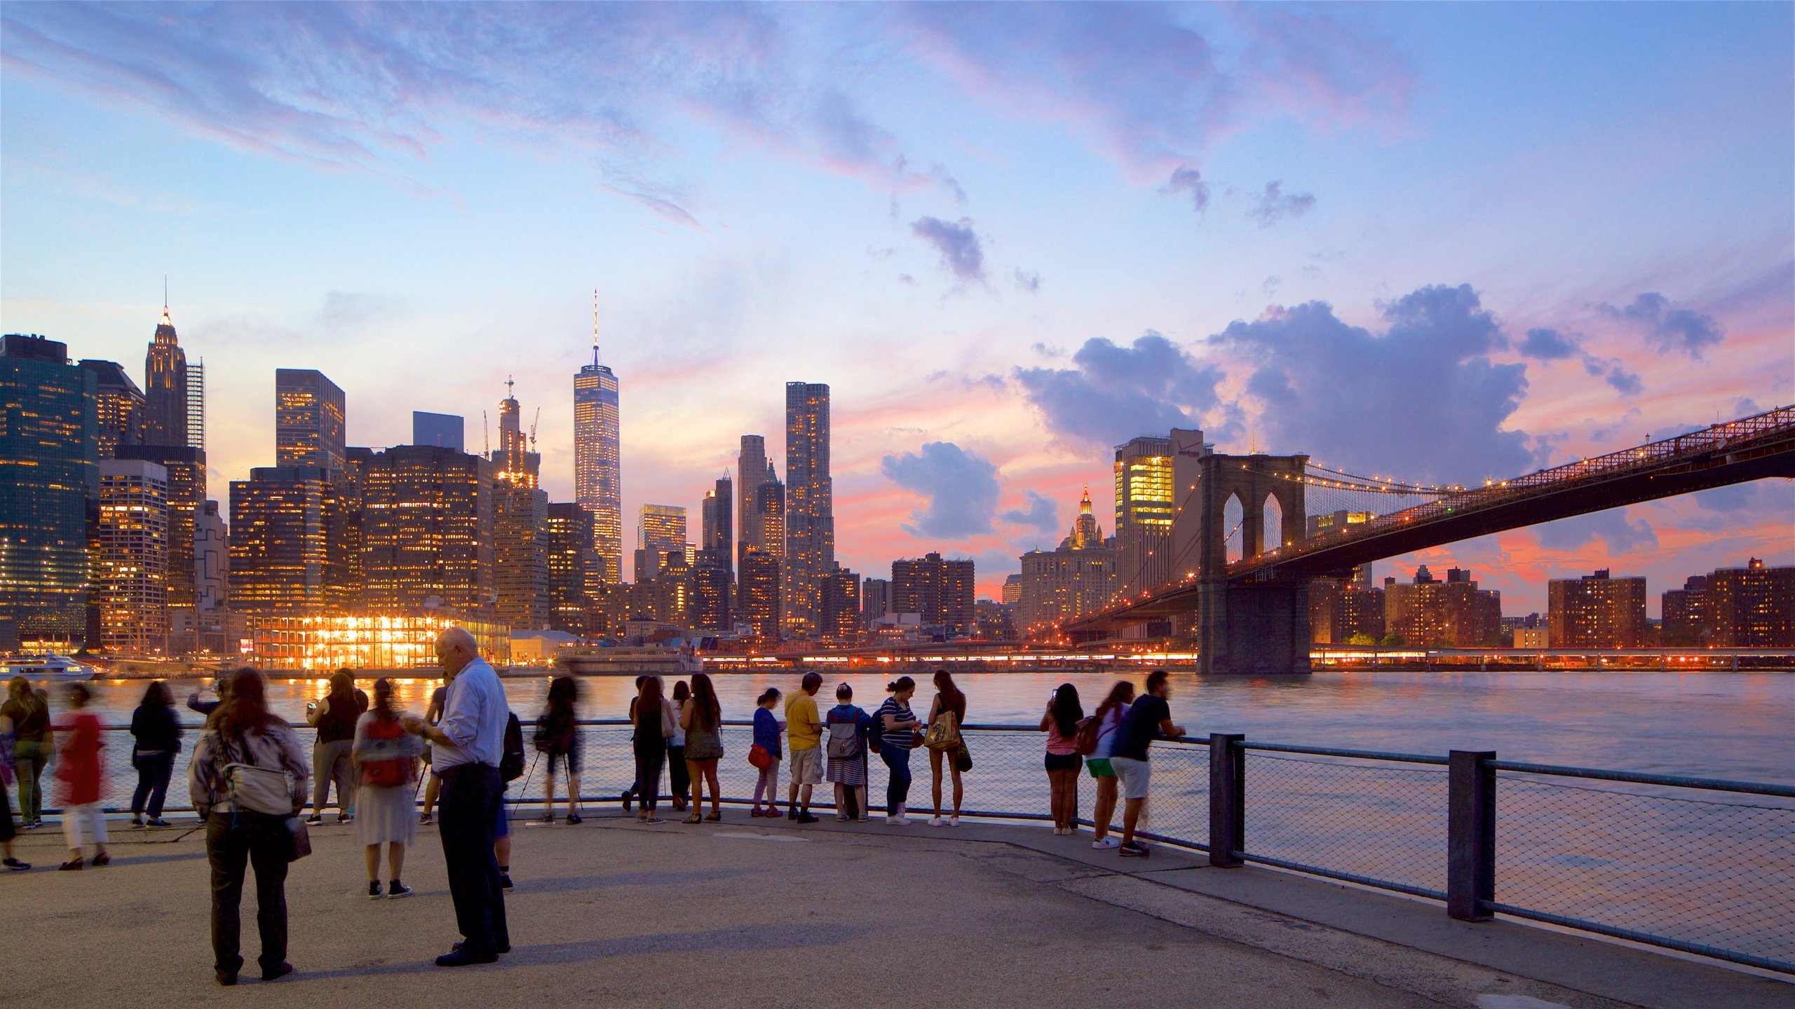
[[[373,682],[373,706],[355,722],[355,835],[368,853],[368,899],[381,896],[411,896],[411,887],[400,882],[406,867],[406,846],[416,829],[413,810],[416,801],[418,756],[424,741],[406,733],[402,715],[393,709],[393,684],[384,677]],[[386,846],[386,894],[381,894],[381,846]]]

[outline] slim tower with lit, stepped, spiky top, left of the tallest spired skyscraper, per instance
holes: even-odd
[[[547,508],[538,487],[542,456],[530,449],[512,382],[499,400],[494,463],[494,578],[499,619],[513,630],[538,630],[549,616]]]

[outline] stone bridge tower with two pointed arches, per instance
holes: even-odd
[[[1179,519],[1190,542],[1178,542],[1174,549],[1181,558],[1195,558],[1199,668],[1204,673],[1307,673],[1309,582],[1230,582],[1226,510],[1228,501],[1240,503],[1242,557],[1301,540],[1309,535],[1303,510],[1309,456],[1204,452],[1179,461],[1185,472],[1195,470],[1190,485],[1179,487],[1185,496]],[[1282,513],[1274,530],[1265,528],[1269,501],[1276,501]]]

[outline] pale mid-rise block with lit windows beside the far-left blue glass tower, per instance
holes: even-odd
[[[117,655],[167,655],[169,474],[144,460],[101,460],[99,474],[93,591],[101,643]]]

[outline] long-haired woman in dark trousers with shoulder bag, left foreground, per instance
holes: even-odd
[[[244,865],[255,867],[255,923],[262,934],[262,980],[293,973],[287,962],[287,860],[293,835],[285,817],[239,810],[224,772],[233,763],[285,772],[293,812],[305,806],[311,763],[300,736],[284,718],[267,711],[262,673],[242,668],[232,673],[230,697],[206,720],[187,768],[187,788],[206,824],[206,860],[212,864],[212,970],[219,984],[237,984],[242,968]],[[242,774],[242,772],[237,772]]]

